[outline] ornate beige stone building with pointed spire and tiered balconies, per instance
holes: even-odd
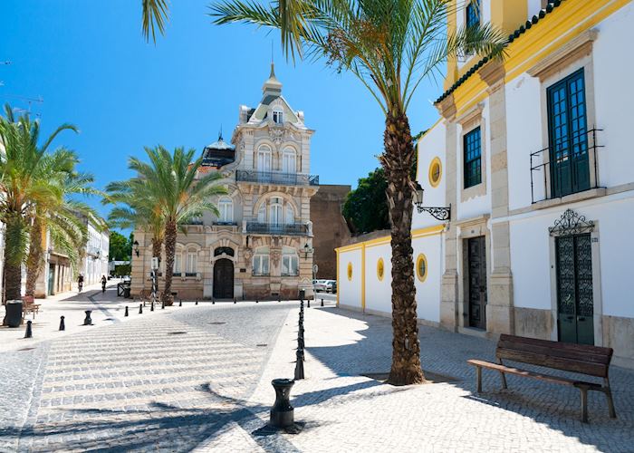
[[[173,291],[180,298],[275,299],[312,294],[311,137],[303,111],[282,96],[273,65],[262,101],[240,106],[232,136],[203,150],[201,173],[220,171],[227,195],[216,198],[219,216],[204,216],[178,234]],[[151,241],[135,231],[131,294],[149,289]],[[159,287],[165,259],[161,260]]]

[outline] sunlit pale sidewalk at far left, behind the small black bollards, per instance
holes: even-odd
[[[117,283],[119,280],[111,280],[105,294],[101,293],[101,284],[92,284],[84,287],[80,294],[69,291],[46,299],[35,299],[35,304],[40,304],[39,313],[29,313],[24,317],[24,324],[20,327],[0,327],[0,352],[32,348],[34,344],[45,340],[132,319],[135,313],[139,313],[139,303],[135,303],[133,299],[117,297]],[[128,318],[124,317],[126,305],[130,310]],[[151,314],[169,313],[173,310],[170,307],[161,310],[160,304],[156,308],[158,311]],[[83,325],[86,310],[92,311],[91,326]],[[149,306],[143,309],[143,313],[150,314]],[[66,330],[63,332],[59,330],[60,316],[64,316]],[[0,306],[0,319],[4,317],[5,307]],[[24,338],[27,321],[33,322],[33,338]]]

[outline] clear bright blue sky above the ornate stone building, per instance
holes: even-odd
[[[351,74],[321,63],[286,63],[278,34],[210,24],[208,0],[172,1],[165,37],[145,43],[140,0],[2,0],[0,102],[41,115],[43,131],[72,122],[57,145],[75,149],[102,188],[128,178],[127,159],[143,146],[202,150],[222,125],[231,137],[238,106],[257,105],[275,72],[294,110],[316,130],[311,168],[322,184],[356,185],[378,166],[383,117]],[[409,109],[413,133],[437,119],[429,102],[441,87],[423,84]],[[99,207],[98,200],[92,203]],[[101,208],[105,215],[107,208]]]

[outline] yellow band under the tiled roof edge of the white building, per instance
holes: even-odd
[[[504,61],[504,82],[512,82],[535,63],[543,60],[562,45],[576,36],[591,29],[596,24],[614,14],[620,8],[628,5],[631,0],[567,0],[551,14],[544,17],[535,30],[522,34],[506,48],[508,58]],[[521,24],[517,24],[519,26]],[[451,64],[450,64],[451,66]],[[471,69],[472,65],[465,65],[460,76]],[[457,80],[451,68],[447,72],[449,86]],[[477,102],[488,97],[486,83],[476,74],[453,92],[456,104],[456,116],[470,109]]]

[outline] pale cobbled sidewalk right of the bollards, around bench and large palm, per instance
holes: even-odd
[[[292,378],[298,311],[289,313],[264,375],[245,401],[260,418],[274,402],[271,381]],[[589,398],[590,424],[579,419],[579,392],[485,372],[475,392],[470,358],[491,359],[495,342],[420,326],[421,359],[427,379],[437,383],[392,387],[363,376],[388,372],[390,320],[337,308],[306,309],[306,379],[292,395],[298,435],[283,439],[300,451],[632,451],[634,372],[610,368],[618,419],[610,419],[605,398]],[[433,372],[430,372],[433,371]],[[598,393],[598,392],[594,392]],[[249,427],[234,425],[222,439],[205,445],[247,449]],[[266,448],[265,441],[258,442]],[[264,444],[264,445],[263,445]],[[293,448],[289,448],[293,449]]]

